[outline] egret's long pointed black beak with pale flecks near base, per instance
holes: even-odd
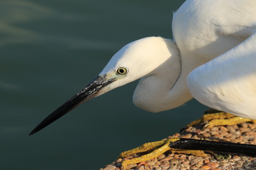
[[[39,130],[45,128],[46,126],[50,125],[55,120],[59,119],[60,117],[64,116],[69,111],[73,110],[77,106],[81,105],[82,103],[90,100],[91,98],[97,95],[97,92],[101,90],[103,87],[107,86],[108,84],[115,81],[116,78],[106,78],[106,76],[98,76],[96,77],[90,84],[88,84],[84,89],[78,92],[75,96],[65,102],[62,106],[57,108],[52,114],[47,116],[35,129],[30,132],[30,135],[38,132]]]

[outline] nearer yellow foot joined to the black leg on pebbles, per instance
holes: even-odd
[[[203,150],[187,150],[187,149],[173,149],[170,148],[170,143],[175,142],[180,140],[180,138],[169,138],[166,140],[161,140],[157,142],[150,142],[150,143],[145,143],[141,145],[140,147],[137,147],[135,149],[131,149],[125,152],[122,152],[117,159],[119,158],[124,158],[128,155],[134,154],[134,153],[140,153],[140,152],[146,152],[146,151],[151,151],[148,154],[142,155],[138,158],[131,158],[131,159],[125,159],[121,162],[121,170],[125,170],[126,167],[130,164],[134,163],[140,163],[143,161],[148,161],[152,158],[156,158],[159,155],[165,153],[166,151],[170,150],[172,153],[184,153],[184,154],[192,154],[195,156],[207,156]]]

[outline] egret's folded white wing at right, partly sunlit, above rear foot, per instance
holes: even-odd
[[[187,84],[202,104],[256,120],[256,33],[194,69]]]

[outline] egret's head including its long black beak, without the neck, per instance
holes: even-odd
[[[111,58],[90,84],[52,112],[30,135],[93,97],[156,73],[157,68],[171,57],[173,48],[178,51],[174,42],[161,37],[147,37],[127,44]]]

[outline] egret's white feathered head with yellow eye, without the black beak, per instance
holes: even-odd
[[[171,57],[172,48],[177,48],[175,43],[162,37],[147,37],[127,44],[99,74],[114,81],[103,87],[96,96],[155,73]]]

